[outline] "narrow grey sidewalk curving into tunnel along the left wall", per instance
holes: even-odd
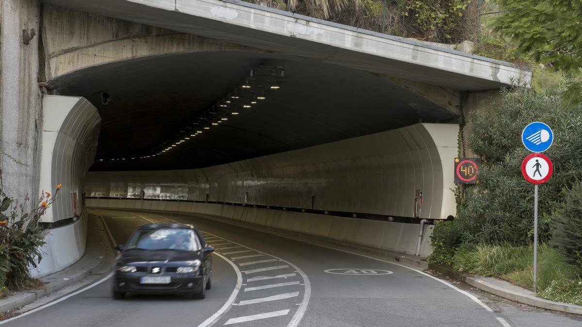
[[[23,307],[33,303],[38,298],[57,292],[87,278],[101,265],[111,265],[113,250],[105,228],[99,216],[89,214],[87,222],[87,243],[85,253],[79,261],[68,266],[62,271],[52,273],[41,278],[44,282],[42,289],[30,292],[17,292],[11,296],[0,298],[0,313]]]

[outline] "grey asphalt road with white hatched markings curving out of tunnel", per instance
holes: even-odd
[[[204,300],[111,297],[111,279],[5,326],[582,326],[403,265],[183,215],[94,211],[116,243],[150,222],[193,223],[217,248]]]

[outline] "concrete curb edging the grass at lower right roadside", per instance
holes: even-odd
[[[516,301],[519,303],[531,305],[532,307],[538,307],[546,310],[566,312],[568,314],[578,314],[582,315],[582,306],[576,304],[567,304],[561,302],[555,302],[550,300],[545,300],[544,298],[535,297],[530,294],[523,294],[515,292],[513,290],[505,289],[501,286],[494,285],[492,283],[483,280],[480,276],[469,275],[467,273],[455,271],[449,266],[443,266],[439,264],[428,264],[428,269],[434,270],[441,273],[449,278],[459,280],[460,282],[467,283],[477,289],[485,291],[487,293],[494,294],[499,297],[507,298],[508,300]]]

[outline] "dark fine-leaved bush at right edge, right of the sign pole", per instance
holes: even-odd
[[[582,276],[582,185],[565,193],[565,201],[552,214],[552,244]]]

